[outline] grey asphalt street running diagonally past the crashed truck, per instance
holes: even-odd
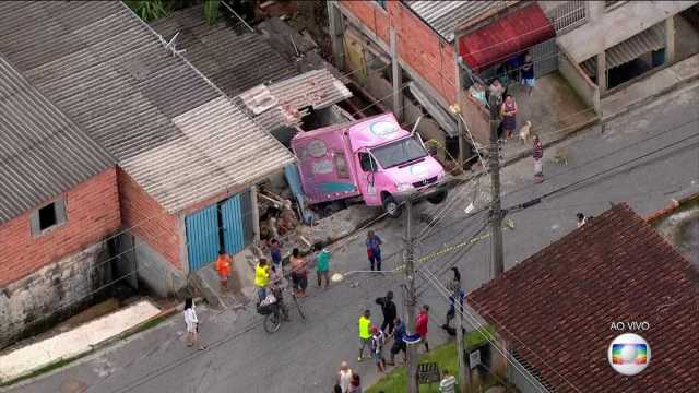
[[[687,86],[615,119],[604,133],[599,126],[585,130],[545,151],[546,180],[541,184],[533,183],[531,158],[506,167],[501,171],[503,206],[550,194],[538,204],[508,214],[510,226],[503,229],[506,269],[572,230],[577,212],[599,215],[611,203],[626,202],[639,214],[647,215],[664,207],[671,198],[698,189],[697,107],[699,88]],[[568,152],[567,166],[549,160],[559,147]],[[417,242],[417,257],[462,242],[483,227],[485,213],[475,216],[464,213],[472,201],[475,201],[474,212],[487,206],[487,177],[455,189],[442,205],[416,206],[416,235],[427,222],[443,216],[434,230],[426,231],[427,237]],[[402,263],[403,222],[382,221],[374,229],[386,241],[383,269]],[[331,270],[366,270],[363,242],[364,233],[336,250]],[[454,263],[462,271],[466,289],[472,290],[488,279],[489,261],[486,238],[472,247],[429,259],[419,267],[436,272],[445,282],[447,275],[439,273]],[[260,325],[261,317],[250,310],[234,314],[201,308],[202,336],[210,344],[208,350],[185,347],[181,335],[185,325],[178,314],[153,330],[9,391],[330,392],[342,360],[348,360],[364,381],[374,380],[375,366],[370,361],[356,361],[357,319],[365,308],[370,308],[372,321],[380,323],[380,310],[374,300],[388,289],[395,291],[399,312],[402,312],[403,275],[348,275],[328,290],[316,288],[312,278],[310,296],[301,300],[306,321],[292,311],[292,322],[283,324],[275,334],[266,334]],[[448,337],[438,325],[442,323],[447,301],[424,276],[419,275],[417,282],[419,301],[433,306],[430,343],[445,342]]]

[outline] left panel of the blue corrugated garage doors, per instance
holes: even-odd
[[[185,218],[189,271],[194,272],[218,257],[218,206],[205,207]]]

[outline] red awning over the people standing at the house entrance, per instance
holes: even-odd
[[[472,70],[479,72],[555,35],[542,9],[532,3],[460,37],[459,55]]]

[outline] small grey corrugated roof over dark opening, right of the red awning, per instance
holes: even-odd
[[[607,70],[625,64],[643,53],[659,50],[665,47],[665,28],[663,24],[656,24],[631,38],[608,48],[605,51]],[[594,75],[596,57],[592,57],[581,63],[590,75]]]

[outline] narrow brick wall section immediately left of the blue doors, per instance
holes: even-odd
[[[131,228],[132,234],[181,270],[179,219],[167,213],[123,170],[117,171],[123,227]]]

